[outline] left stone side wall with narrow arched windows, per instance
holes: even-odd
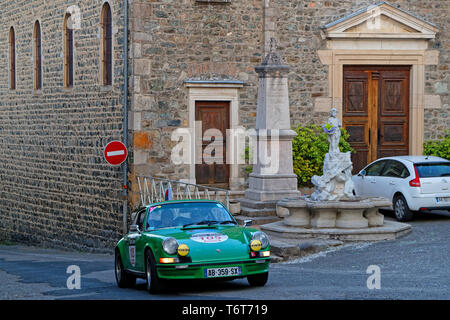
[[[64,88],[63,21],[78,5],[74,86]],[[121,235],[122,172],[103,159],[122,140],[122,1],[113,14],[113,86],[99,81],[102,1],[2,0],[0,5],[0,239],[111,251]],[[32,33],[42,30],[43,88],[33,90]],[[17,89],[8,34],[16,32]]]

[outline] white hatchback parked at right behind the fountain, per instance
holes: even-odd
[[[450,161],[432,156],[378,159],[352,177],[358,196],[392,201],[395,217],[409,221],[415,211],[450,211]]]

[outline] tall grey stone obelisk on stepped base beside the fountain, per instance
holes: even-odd
[[[297,176],[293,171],[292,139],[288,94],[287,66],[270,41],[270,51],[261,65],[256,110],[256,145],[249,188],[241,199],[244,216],[276,216],[276,202],[286,197],[299,197]],[[263,220],[263,219],[260,219]]]

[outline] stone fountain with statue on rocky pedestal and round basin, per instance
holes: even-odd
[[[340,127],[333,108],[323,126],[329,141],[323,175],[311,178],[315,191],[311,196],[279,200],[276,212],[283,220],[261,226],[269,235],[367,241],[395,239],[410,231],[409,225],[385,221],[379,213],[379,208],[391,205],[388,199],[355,196],[350,152],[339,150]]]

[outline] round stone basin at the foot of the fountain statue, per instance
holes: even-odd
[[[392,240],[411,232],[411,226],[385,221],[379,208],[392,203],[385,198],[313,201],[310,197],[277,202],[282,221],[264,224],[261,230],[275,238],[335,239],[342,241]]]

